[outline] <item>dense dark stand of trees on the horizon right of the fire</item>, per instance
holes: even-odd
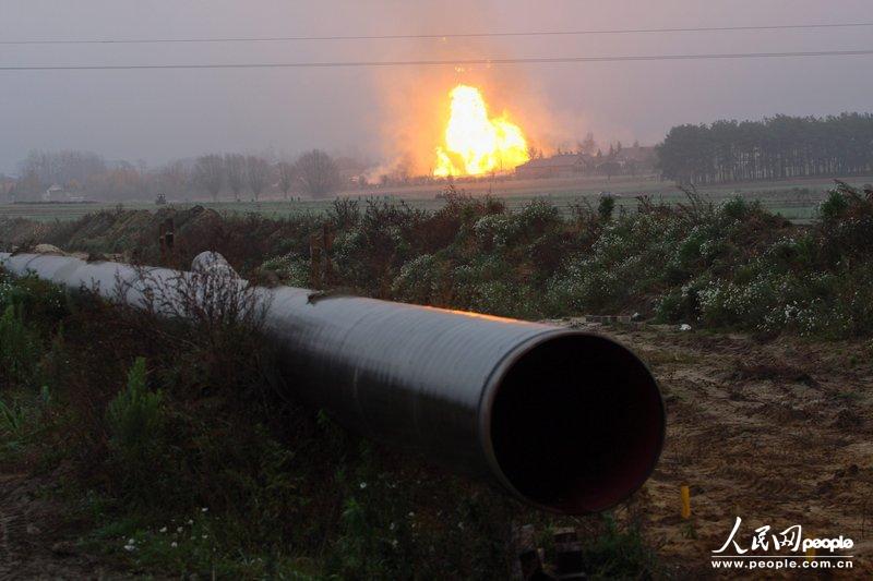
[[[661,174],[699,184],[873,171],[873,114],[776,116],[679,125],[658,146]]]

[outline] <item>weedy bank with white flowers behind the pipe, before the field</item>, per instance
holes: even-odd
[[[582,199],[567,214],[545,199],[510,209],[453,189],[442,197],[433,211],[339,199],[324,217],[276,220],[200,207],[98,213],[41,230],[41,241],[157,264],[166,257],[155,225],[172,217],[174,266],[187,268],[196,253],[215,250],[264,283],[310,286],[311,237],[326,227],[331,269],[323,285],[370,296],[521,318],[638,314],[829,338],[873,330],[873,202],[847,184],[805,227],[755,202],[716,204],[693,191],[678,204],[641,196],[633,210],[611,196],[596,208]]]

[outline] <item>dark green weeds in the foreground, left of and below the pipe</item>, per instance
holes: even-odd
[[[119,570],[505,579],[518,522],[599,522],[538,513],[302,408],[256,318],[162,320],[29,277],[1,288],[0,350],[25,363],[0,377],[0,467],[49,474],[40,494],[65,504],[77,549]],[[636,525],[602,534],[591,570],[653,570]]]

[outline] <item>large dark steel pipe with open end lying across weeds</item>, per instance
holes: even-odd
[[[0,254],[111,296],[136,270],[68,256]],[[170,280],[180,274],[150,269]],[[288,384],[363,434],[487,475],[516,497],[566,513],[602,510],[651,473],[665,411],[646,366],[615,341],[507,318],[306,289],[270,296],[266,332]],[[125,299],[136,304],[136,293]]]

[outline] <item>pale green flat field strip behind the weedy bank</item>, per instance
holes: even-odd
[[[873,177],[847,178],[847,182],[856,185],[873,182]],[[786,218],[803,223],[814,218],[818,203],[825,192],[834,185],[830,179],[749,182],[699,187],[705,199],[718,203],[734,195],[757,199],[767,209]],[[372,190],[348,191],[339,197],[386,199],[394,203],[400,201],[416,208],[435,209],[443,205],[438,194],[445,187],[444,183],[410,185],[406,187],[376,187]],[[656,202],[678,203],[685,199],[685,194],[671,182],[655,178],[605,178],[582,179],[542,179],[542,180],[497,180],[457,183],[458,191],[470,194],[488,194],[500,197],[510,208],[523,206],[531,199],[545,198],[569,213],[570,207],[584,201],[593,204],[601,192],[611,192],[618,198],[618,205],[633,209],[637,205],[637,196],[649,195]],[[264,199],[262,202],[211,202],[200,199],[174,199],[176,207],[200,204],[214,208],[219,213],[258,213],[268,217],[285,217],[297,214],[321,214],[333,203],[330,199],[296,198],[294,201]],[[93,204],[0,204],[0,217],[28,218],[33,220],[71,220],[97,211],[119,207],[118,202],[97,202]],[[124,202],[124,209],[155,209],[151,202]]]

